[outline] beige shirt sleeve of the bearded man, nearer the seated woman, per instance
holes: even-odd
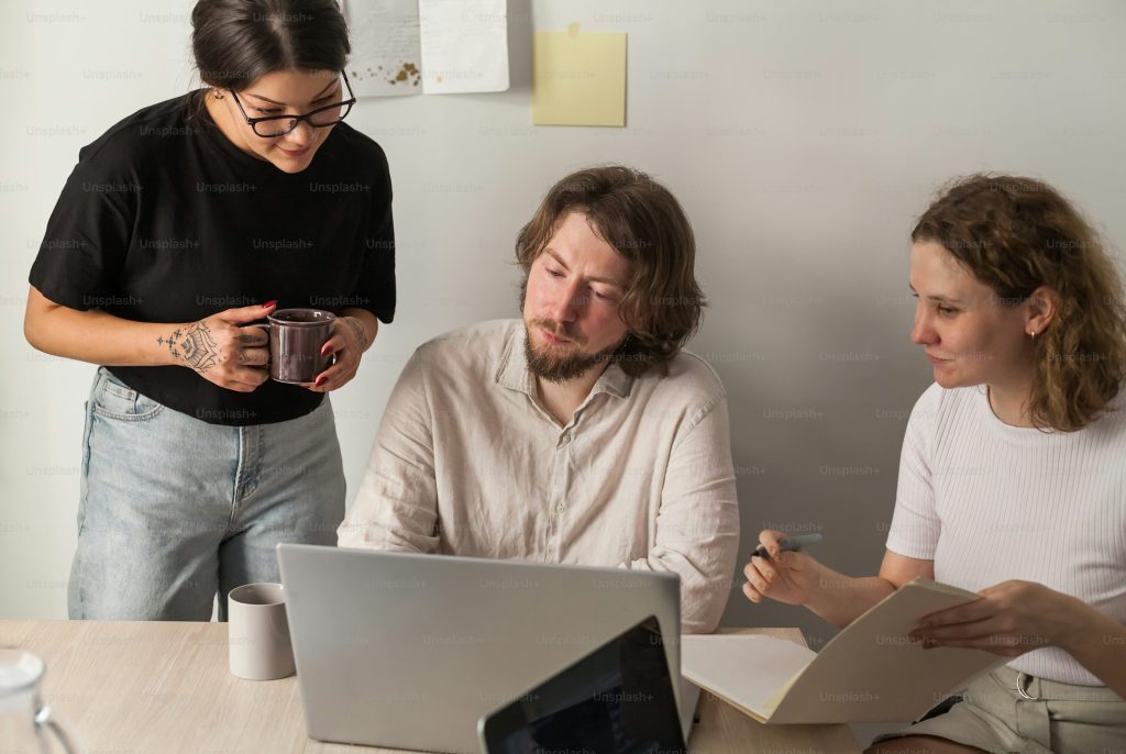
[[[726,398],[716,398],[701,412],[672,446],[653,547],[646,557],[623,564],[680,576],[685,634],[709,634],[720,625],[739,556]]]

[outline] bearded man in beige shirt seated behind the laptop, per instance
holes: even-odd
[[[718,625],[739,510],[726,394],[683,343],[704,304],[677,199],[581,170],[520,231],[520,320],[423,344],[383,413],[341,547],[664,571]]]

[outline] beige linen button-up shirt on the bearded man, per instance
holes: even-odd
[[[681,628],[720,622],[739,547],[723,385],[611,363],[561,425],[540,404],[520,320],[415,351],[387,401],[341,547],[664,571]]]

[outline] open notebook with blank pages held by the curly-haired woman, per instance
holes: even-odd
[[[915,578],[820,653],[767,636],[685,636],[681,673],[760,722],[915,720],[1006,662],[982,649],[923,649],[908,640],[927,613],[977,596]]]

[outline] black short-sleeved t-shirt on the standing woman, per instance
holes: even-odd
[[[146,107],[79,152],[30,284],[56,304],[140,322],[194,322],[271,299],[391,322],[394,228],[379,145],[341,123],[309,168],[286,173],[232,144],[200,98]],[[111,371],[213,424],[295,419],[323,397],[274,380],[238,393],[181,366]]]

